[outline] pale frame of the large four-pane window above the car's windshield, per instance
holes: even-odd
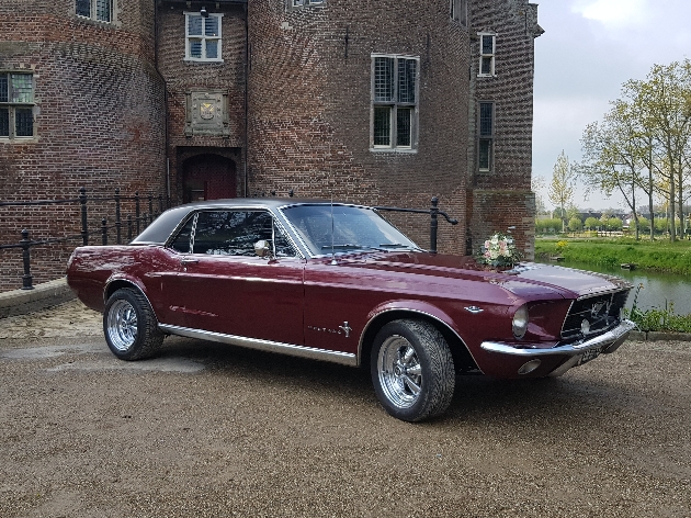
[[[393,74],[390,85],[392,99],[377,99],[377,59],[392,59]],[[399,97],[400,76],[399,67],[401,61],[415,61],[415,87],[412,89],[414,100],[403,101]],[[417,153],[418,134],[419,134],[419,105],[420,105],[420,56],[407,54],[371,54],[371,98],[370,98],[370,150],[371,151],[396,151],[396,153]],[[388,115],[388,144],[377,144],[376,126],[377,126],[377,109],[389,109]],[[399,144],[398,140],[398,112],[400,109],[410,111],[409,120],[409,143]]]

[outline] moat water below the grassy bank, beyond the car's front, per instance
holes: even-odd
[[[547,263],[548,261],[544,261]],[[550,261],[550,264],[556,264]],[[628,296],[626,307],[632,306],[638,284],[643,284],[643,289],[638,292],[636,302],[641,309],[649,309],[652,307],[665,308],[665,304],[675,303],[675,313],[678,315],[691,314],[691,277],[679,275],[675,273],[654,273],[643,272],[639,270],[622,270],[620,268],[608,268],[600,264],[580,263],[580,262],[558,262],[559,266],[567,268],[578,268],[579,270],[590,270],[600,273],[612,273],[626,279],[634,285]]]

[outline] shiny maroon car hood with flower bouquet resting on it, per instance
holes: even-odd
[[[511,269],[492,269],[474,257],[428,252],[382,252],[337,256],[339,264],[419,273],[435,278],[490,282],[519,296],[559,293],[565,299],[631,289],[614,275],[537,262],[521,262]],[[439,280],[443,282],[442,279]]]

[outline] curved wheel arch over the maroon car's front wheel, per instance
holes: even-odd
[[[433,306],[411,307],[401,304],[381,307],[378,311],[370,314],[358,346],[358,364],[360,367],[366,368],[370,364],[372,346],[380,329],[389,322],[405,318],[428,322],[442,334],[451,349],[456,372],[478,370],[473,354],[458,335],[458,331],[454,329],[451,317]]]

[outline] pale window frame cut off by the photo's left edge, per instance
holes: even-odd
[[[12,76],[31,77],[31,100],[13,99]],[[4,81],[1,79],[2,77],[5,78]],[[34,140],[36,138],[36,76],[34,70],[0,69],[0,88],[7,89],[4,92],[0,92],[0,142],[24,143]],[[18,111],[31,112],[31,134],[16,135]]]

